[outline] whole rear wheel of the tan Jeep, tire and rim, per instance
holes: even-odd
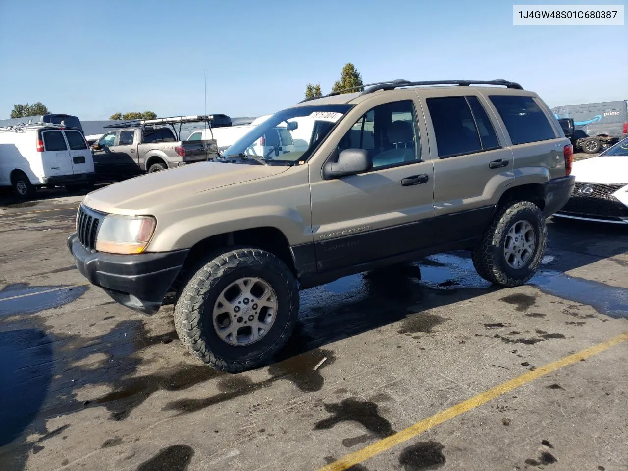
[[[502,286],[519,286],[536,273],[547,245],[543,213],[529,201],[509,203],[475,247],[477,273]]]

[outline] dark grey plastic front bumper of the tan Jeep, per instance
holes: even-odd
[[[114,255],[86,249],[76,233],[68,249],[78,271],[121,305],[146,315],[156,313],[170,290],[189,249],[137,255]]]

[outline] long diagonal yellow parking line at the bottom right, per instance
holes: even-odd
[[[353,465],[356,465],[357,463],[363,462],[364,460],[372,458],[375,455],[379,455],[379,453],[385,452],[386,450],[389,450],[390,448],[399,445],[399,443],[403,443],[404,441],[409,440],[414,436],[420,435],[421,433],[430,430],[436,425],[439,425],[447,420],[454,418],[455,416],[458,416],[462,413],[470,411],[471,409],[481,406],[482,404],[485,404],[492,399],[499,398],[499,396],[507,394],[519,386],[523,386],[528,382],[534,381],[541,376],[545,376],[546,374],[561,369],[565,366],[577,363],[580,360],[592,357],[593,355],[597,355],[601,352],[604,352],[604,350],[608,350],[610,349],[610,347],[613,347],[614,345],[620,344],[621,342],[625,342],[627,340],[628,332],[622,333],[620,335],[617,335],[617,337],[607,340],[607,342],[602,342],[602,344],[595,345],[576,354],[569,355],[568,357],[561,358],[560,360],[556,360],[555,362],[548,363],[533,371],[529,371],[525,374],[522,374],[521,376],[517,376],[510,381],[506,381],[495,387],[491,387],[489,390],[484,391],[484,393],[480,393],[477,396],[467,399],[460,404],[456,404],[455,406],[452,406],[445,411],[441,411],[431,416],[430,418],[415,423],[414,425],[411,425],[408,428],[401,430],[398,433],[395,433],[394,435],[388,436],[383,440],[376,441],[372,445],[362,448],[362,450],[350,453],[349,455],[346,455],[345,457],[340,458],[339,460],[320,468],[318,471],[345,471]]]

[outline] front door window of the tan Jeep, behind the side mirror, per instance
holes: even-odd
[[[376,106],[349,129],[338,143],[345,149],[364,149],[373,169],[387,168],[421,160],[421,146],[412,100]]]

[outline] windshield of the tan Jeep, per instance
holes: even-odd
[[[306,161],[351,107],[318,105],[279,111],[244,134],[222,156],[251,157],[284,165]]]

